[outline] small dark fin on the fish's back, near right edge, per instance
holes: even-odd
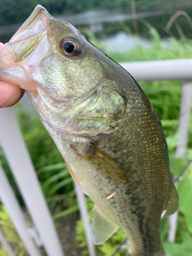
[[[174,214],[179,208],[179,198],[173,181],[170,182],[170,195],[166,210],[163,211],[161,218]]]

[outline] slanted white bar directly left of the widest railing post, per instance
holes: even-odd
[[[23,211],[20,208],[17,199],[14,195],[13,189],[6,177],[3,167],[0,163],[0,197],[9,212],[9,216],[17,230],[20,239],[23,241],[26,250],[31,256],[41,256],[41,253],[33,243],[30,234],[28,233],[28,227],[23,215]]]

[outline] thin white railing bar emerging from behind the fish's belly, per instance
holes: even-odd
[[[74,187],[76,191],[77,202],[79,205],[80,216],[82,218],[83,225],[84,225],[84,232],[86,234],[89,255],[96,256],[97,254],[96,254],[95,246],[91,238],[91,230],[90,230],[88,207],[87,207],[86,199],[84,194],[82,193],[82,191],[80,190],[80,188],[77,186],[75,182],[74,182]]]

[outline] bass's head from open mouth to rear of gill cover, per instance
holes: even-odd
[[[124,116],[126,97],[109,78],[115,75],[105,58],[75,27],[38,5],[5,44],[0,80],[25,89],[54,129],[73,136],[108,134]]]

